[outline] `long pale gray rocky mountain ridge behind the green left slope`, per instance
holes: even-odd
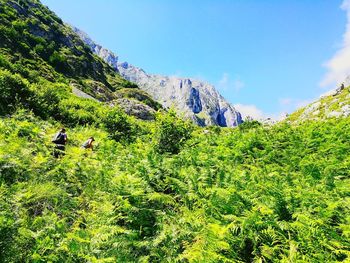
[[[143,69],[128,62],[117,63],[118,57],[92,41],[77,28],[73,30],[91,50],[110,64],[125,79],[136,83],[164,108],[174,107],[185,118],[201,126],[218,125],[234,127],[243,122],[241,114],[206,82],[147,74]]]

